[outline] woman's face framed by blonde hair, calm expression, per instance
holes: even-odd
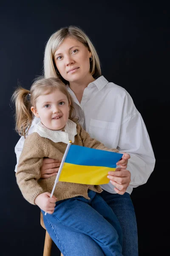
[[[78,82],[90,74],[91,52],[78,40],[68,37],[54,53],[54,61],[61,76],[69,82]]]

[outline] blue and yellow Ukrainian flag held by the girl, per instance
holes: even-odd
[[[59,181],[100,185],[109,183],[109,171],[115,171],[123,154],[71,145]]]

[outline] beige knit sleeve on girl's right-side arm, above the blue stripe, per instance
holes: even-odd
[[[77,131],[81,137],[82,144],[88,148],[96,148],[106,151],[119,152],[116,148],[107,148],[103,143],[99,142],[90,137],[90,135],[85,131],[81,125],[77,123]]]

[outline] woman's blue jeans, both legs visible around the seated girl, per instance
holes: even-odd
[[[130,195],[128,193],[124,195],[111,194],[103,191],[99,196],[113,209],[119,219],[123,232],[123,256],[138,256],[136,216]],[[50,222],[46,221],[45,227],[48,233],[50,233]],[[51,238],[57,244],[57,247],[59,243],[60,247],[64,247],[67,256],[104,256],[98,244],[90,236],[85,234],[80,234],[63,227],[57,227],[55,236],[51,234]],[[65,246],[65,243],[67,246]]]

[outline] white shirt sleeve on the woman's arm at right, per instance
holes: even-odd
[[[155,157],[142,116],[128,93],[124,108],[118,149],[130,154],[127,170],[131,173],[130,186],[135,188],[147,182],[155,166]]]

